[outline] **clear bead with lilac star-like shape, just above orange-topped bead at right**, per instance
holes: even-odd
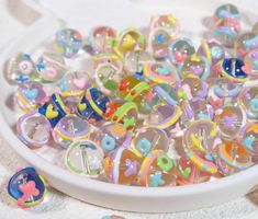
[[[222,138],[234,139],[245,125],[246,118],[240,107],[229,105],[215,112],[215,122]]]

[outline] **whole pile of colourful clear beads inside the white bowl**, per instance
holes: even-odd
[[[257,24],[242,34],[232,4],[220,7],[213,22],[214,38],[199,48],[165,14],[152,18],[147,35],[97,26],[82,37],[64,28],[55,51],[37,60],[16,55],[5,78],[18,85],[24,112],[20,140],[63,147],[69,171],[115,184],[187,185],[254,165]],[[92,72],[68,70],[66,61],[81,53],[92,55]]]

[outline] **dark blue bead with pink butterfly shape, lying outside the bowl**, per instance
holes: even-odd
[[[44,178],[33,168],[19,170],[8,182],[8,194],[23,208],[35,206],[46,194]]]

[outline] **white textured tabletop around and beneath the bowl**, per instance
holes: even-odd
[[[228,1],[227,1],[228,2]],[[253,4],[257,4],[253,0],[248,0]],[[52,4],[52,0],[45,0],[44,4]],[[57,5],[57,2],[55,2]],[[59,9],[58,9],[59,10]],[[15,14],[16,0],[0,0],[0,48],[5,43],[15,37],[15,35],[24,28],[21,24],[20,18]],[[24,23],[30,22],[26,16],[23,18]],[[48,188],[47,196],[38,206],[29,209],[18,208],[7,196],[5,182],[10,175],[12,175],[19,166],[25,166],[26,164],[19,159],[19,157],[11,151],[7,146],[7,142],[0,138],[0,218],[19,218],[31,219],[36,218],[89,218],[101,219],[103,216],[117,215],[123,216],[126,219],[257,219],[258,218],[258,189],[248,196],[240,197],[228,203],[224,203],[211,208],[199,209],[195,211],[177,212],[177,214],[132,214],[114,211],[97,206],[92,206],[71,197],[68,197],[54,188]],[[150,200],[152,201],[152,200]]]

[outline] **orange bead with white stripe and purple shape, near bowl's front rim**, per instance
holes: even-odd
[[[139,159],[128,149],[120,147],[104,159],[105,176],[111,183],[133,184],[141,166]]]

